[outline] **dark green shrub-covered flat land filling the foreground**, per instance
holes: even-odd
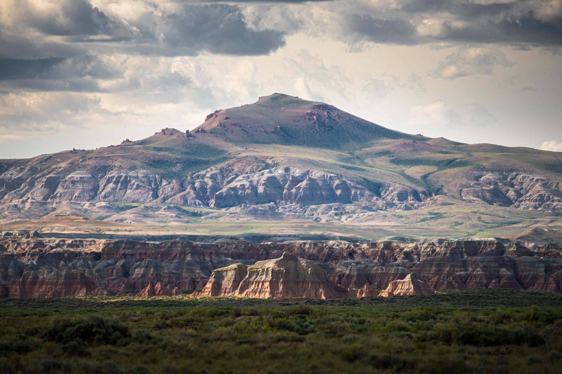
[[[4,373],[556,373],[562,295],[0,299]]]

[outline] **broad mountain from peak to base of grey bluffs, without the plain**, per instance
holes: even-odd
[[[375,210],[461,204],[458,197],[551,214],[562,210],[560,160],[541,150],[409,135],[275,93],[216,110],[189,133],[164,128],[117,146],[0,160],[0,220],[59,209],[106,219],[126,207],[102,213],[97,202],[273,204],[310,219],[342,211],[360,219]]]

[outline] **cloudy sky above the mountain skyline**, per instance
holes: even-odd
[[[562,151],[562,0],[0,1],[0,158],[191,130],[275,92]]]

